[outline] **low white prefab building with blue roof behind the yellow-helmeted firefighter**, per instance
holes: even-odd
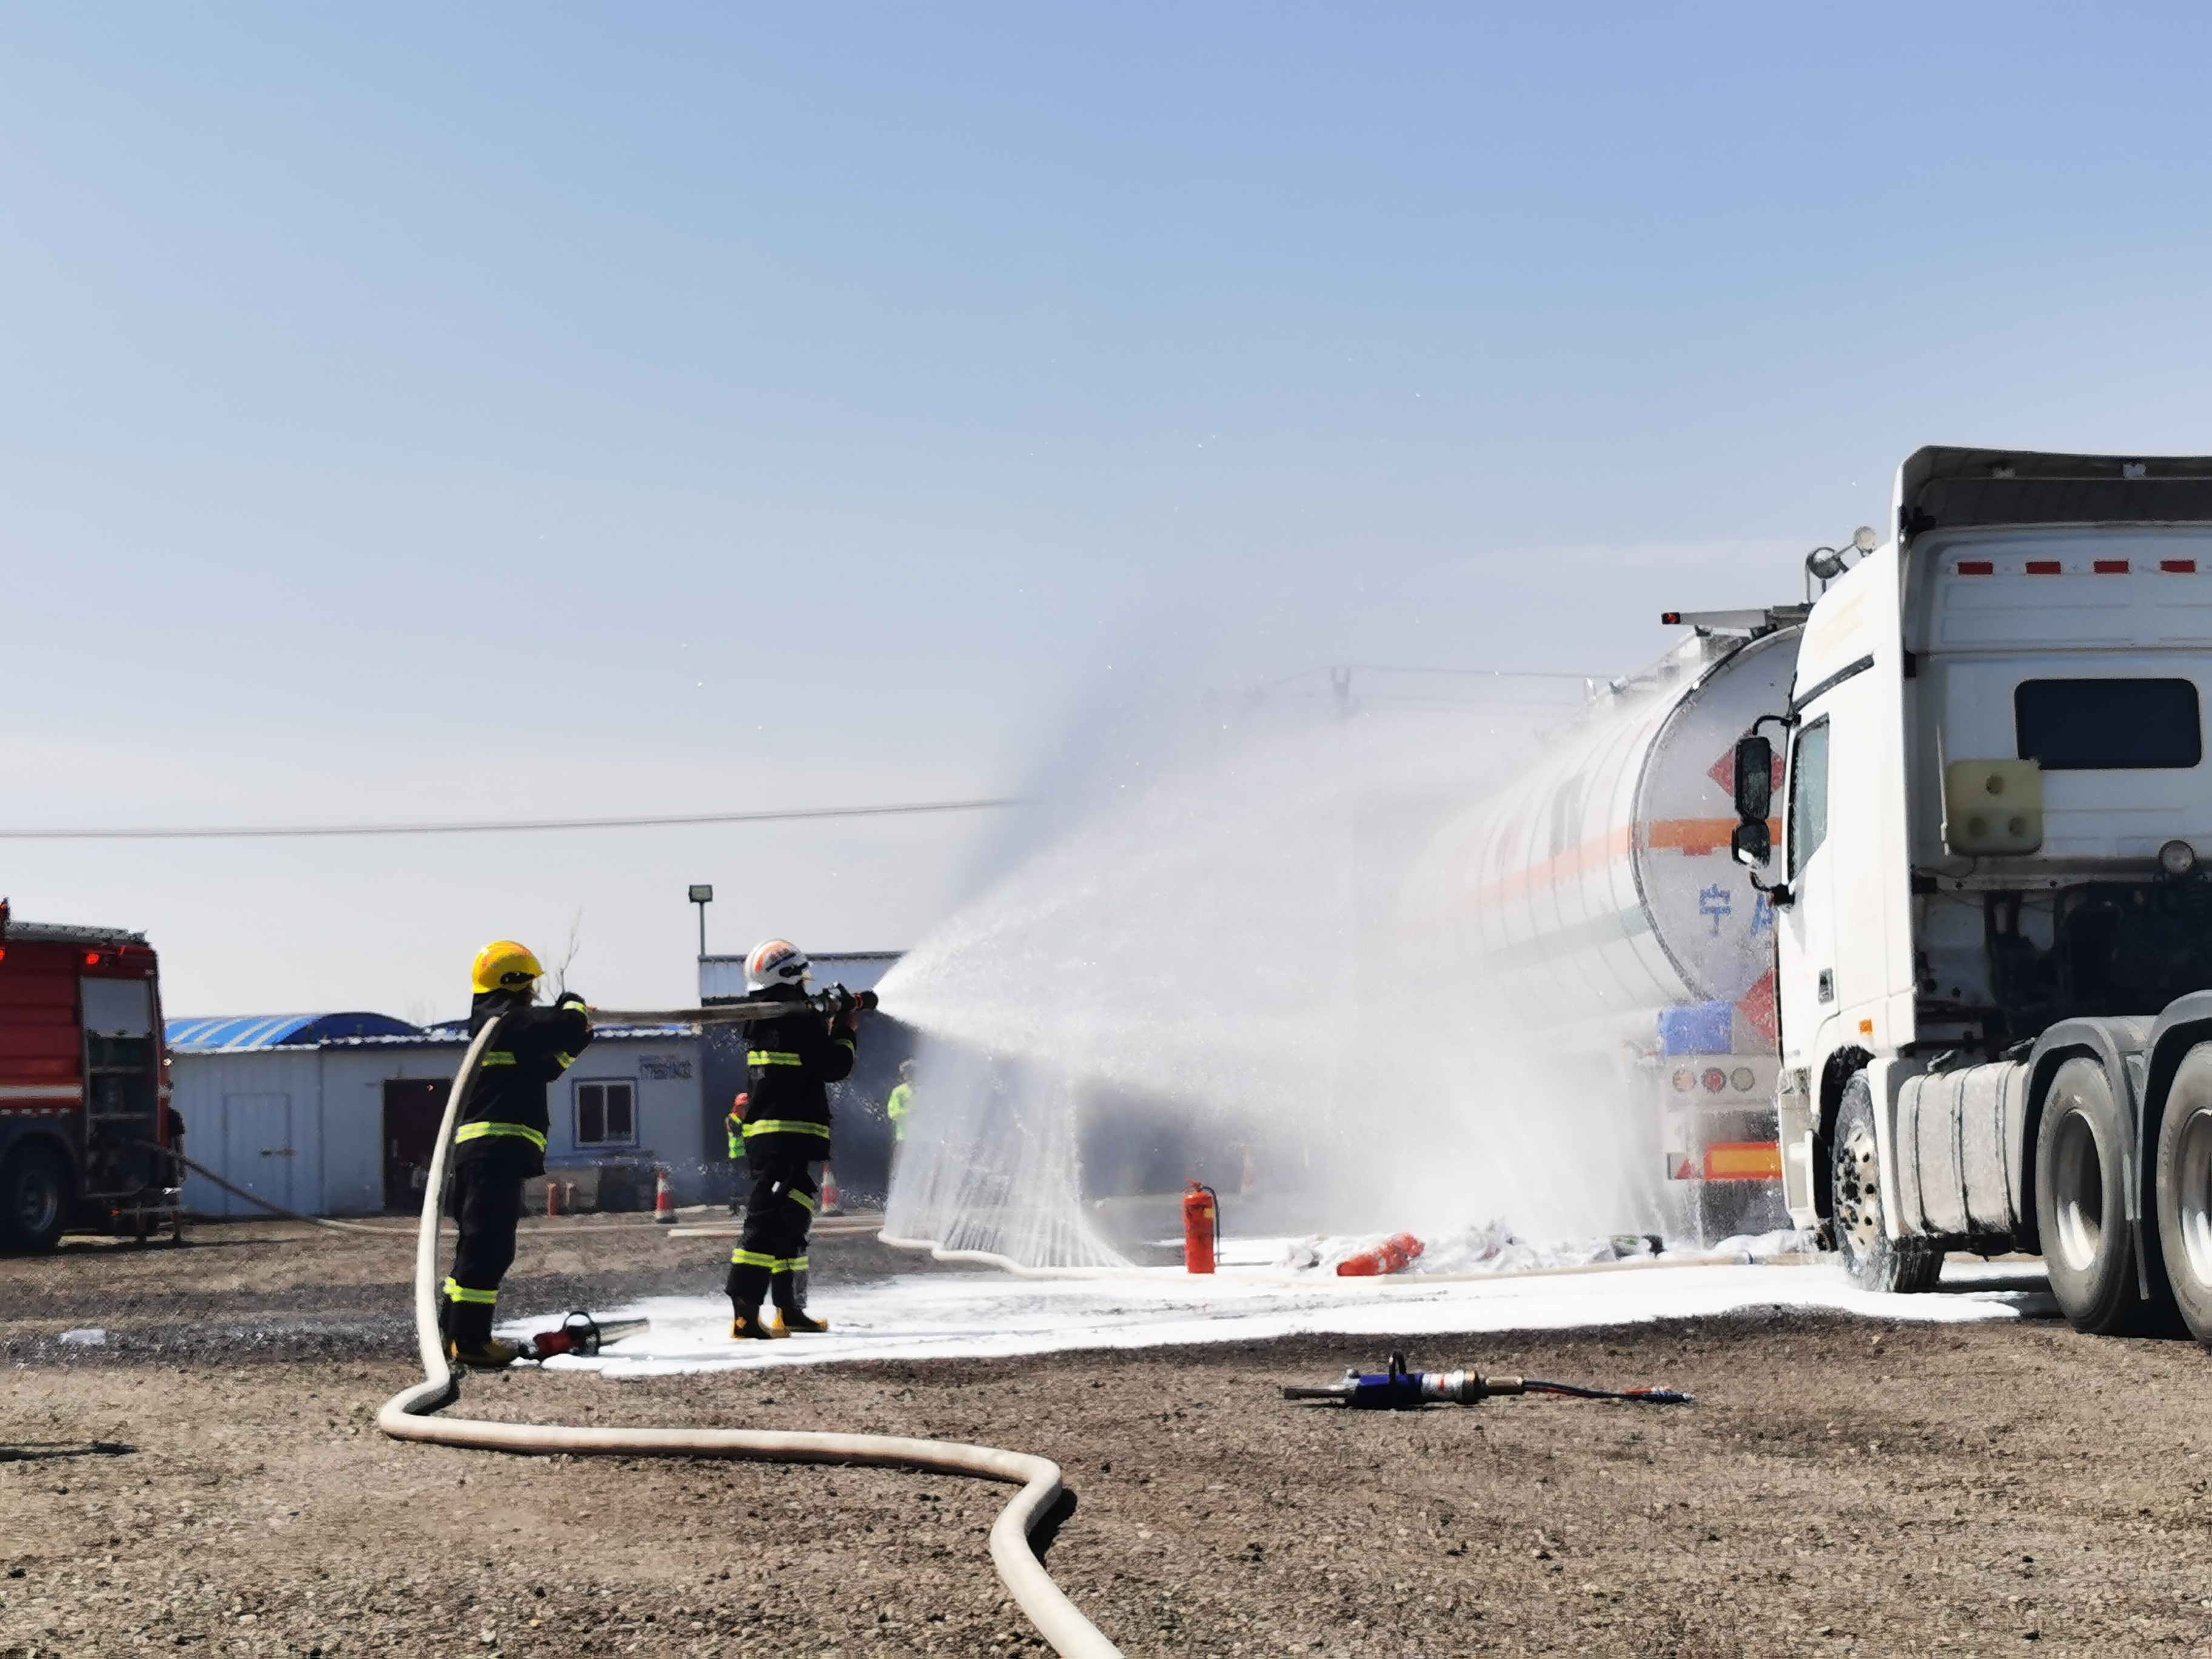
[[[305,1214],[418,1210],[460,1024],[380,1013],[168,1020],[170,1084],[186,1157],[230,1186]],[[546,1170],[586,1208],[653,1203],[668,1168],[679,1203],[706,1197],[699,1026],[599,1026],[549,1088]],[[542,1190],[542,1183],[540,1183]],[[252,1199],[190,1175],[195,1214],[261,1214]]]

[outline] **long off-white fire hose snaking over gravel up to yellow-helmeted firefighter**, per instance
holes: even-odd
[[[1013,1495],[991,1524],[991,1564],[1000,1582],[1029,1615],[1055,1652],[1079,1659],[1119,1659],[1091,1619],[1075,1610],[1044,1571],[1029,1533],[1060,1500],[1060,1464],[1026,1451],[969,1447],[956,1440],[907,1440],[887,1433],[770,1433],[765,1429],[575,1429],[566,1425],[484,1422],[478,1418],[431,1416],[460,1398],[460,1378],[445,1356],[438,1334],[438,1210],[445,1194],[445,1155],[453,1144],[453,1126],[469,1099],[476,1062],[500,1029],[489,1020],[469,1044],[453,1088],[445,1102],[445,1121],[429,1161],[422,1188],[422,1228],[416,1234],[416,1343],[422,1349],[422,1380],[400,1389],[376,1413],[376,1427],[394,1440],[427,1440],[438,1447],[473,1451],[520,1451],[546,1455],[611,1453],[622,1458],[757,1458],[763,1462],[843,1462],[883,1469],[927,1469],[942,1475],[982,1475],[1004,1480],[1022,1491]]]

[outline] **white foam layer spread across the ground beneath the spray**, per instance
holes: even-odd
[[[1239,1250],[1256,1256],[1259,1250]],[[1750,1307],[1803,1307],[1863,1318],[1969,1323],[2048,1318],[2057,1312],[2039,1263],[1953,1261],[1944,1287],[1922,1296],[1858,1290],[1840,1265],[1621,1265],[1595,1272],[1500,1274],[1475,1281],[1334,1279],[1276,1267],[1228,1267],[1194,1279],[1179,1267],[1135,1267],[1091,1279],[1015,1279],[995,1272],[914,1274],[825,1287],[812,1312],[823,1336],[732,1343],[721,1296],[650,1296],[606,1310],[650,1318],[650,1329],[597,1358],[549,1369],[611,1378],[750,1371],[836,1360],[947,1360],[1248,1343],[1274,1336],[1469,1336],[1575,1329],[1655,1318],[1701,1318]],[[526,1332],[544,1321],[507,1327]]]

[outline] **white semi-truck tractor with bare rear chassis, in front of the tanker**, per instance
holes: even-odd
[[[1790,1212],[2212,1343],[2212,458],[1922,449],[1865,540],[1734,763]]]

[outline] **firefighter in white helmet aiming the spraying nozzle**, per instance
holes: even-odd
[[[805,1004],[807,956],[772,938],[745,958],[745,993],[796,1004],[750,1026],[745,1053],[745,1232],[730,1252],[730,1336],[737,1340],[825,1332],[807,1314],[807,1230],[821,1186],[810,1166],[830,1157],[830,1084],[852,1075],[858,1011],[823,1015]],[[774,1301],[774,1325],[761,1303]]]

